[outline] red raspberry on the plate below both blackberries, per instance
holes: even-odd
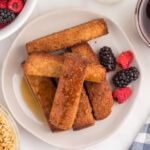
[[[114,99],[119,103],[125,102],[132,94],[132,89],[129,87],[119,88],[113,92]]]

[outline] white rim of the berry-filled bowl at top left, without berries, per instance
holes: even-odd
[[[31,15],[37,0],[27,0],[21,13],[9,25],[0,30],[0,41],[17,31]]]

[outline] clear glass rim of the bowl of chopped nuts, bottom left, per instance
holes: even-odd
[[[8,121],[8,124],[10,125],[11,129],[14,132],[15,149],[20,150],[20,134],[19,134],[17,124],[15,123],[11,114],[8,112],[8,110],[2,104],[0,104],[0,113],[2,113],[2,115],[5,116],[6,120]]]

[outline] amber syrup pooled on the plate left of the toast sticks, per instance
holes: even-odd
[[[21,94],[22,94],[23,100],[24,100],[25,104],[28,106],[28,108],[31,110],[33,115],[37,118],[37,120],[46,124],[44,114],[42,114],[40,107],[39,107],[38,103],[35,101],[35,99],[32,95],[32,92],[31,92],[30,88],[28,87],[24,77],[21,80],[20,89],[21,89]]]

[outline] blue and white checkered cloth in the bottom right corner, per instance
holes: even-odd
[[[143,129],[140,131],[129,150],[150,150],[150,117],[147,119]]]

